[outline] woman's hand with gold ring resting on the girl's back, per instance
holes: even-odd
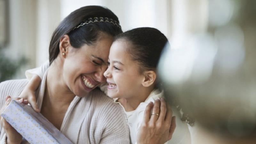
[[[143,121],[137,134],[138,144],[164,144],[172,139],[176,123],[175,116],[172,116],[171,106],[166,105],[165,100],[161,99],[161,102],[160,100],[155,101],[151,114],[152,107],[153,103],[150,102],[144,112]]]

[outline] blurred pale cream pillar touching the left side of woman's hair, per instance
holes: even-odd
[[[36,67],[49,58],[49,44],[60,23],[60,0],[37,0]]]

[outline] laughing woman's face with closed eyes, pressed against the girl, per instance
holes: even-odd
[[[92,45],[68,49],[63,63],[63,80],[71,92],[83,97],[106,81],[103,73],[108,67],[112,42],[112,36],[101,34],[100,39]]]

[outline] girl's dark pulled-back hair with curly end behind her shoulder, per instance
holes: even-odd
[[[139,62],[140,72],[155,70],[164,47],[169,46],[166,36],[156,28],[135,28],[115,36],[114,41],[118,40],[124,40],[131,45],[127,52],[131,55],[132,60]],[[156,85],[156,87],[162,88],[161,84]],[[181,120],[193,126],[195,120],[183,113],[175,101],[171,100],[170,102],[181,113]]]

